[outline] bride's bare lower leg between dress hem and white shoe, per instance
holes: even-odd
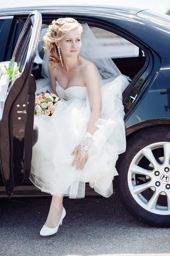
[[[49,209],[49,214],[46,219],[45,226],[54,228],[58,225],[63,211],[63,196],[52,196],[52,202]]]

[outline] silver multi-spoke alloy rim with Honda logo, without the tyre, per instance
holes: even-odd
[[[157,149],[163,152],[163,160],[159,162],[153,153]],[[141,167],[144,158],[150,164]],[[138,177],[142,177],[139,183]],[[130,163],[127,181],[131,195],[142,208],[155,214],[170,215],[170,143],[158,142],[142,148]],[[159,204],[158,200],[162,198],[164,203]]]

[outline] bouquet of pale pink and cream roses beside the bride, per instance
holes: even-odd
[[[34,114],[36,116],[52,116],[60,100],[61,99],[56,94],[50,93],[48,90],[46,91],[46,93],[37,93],[37,95],[35,96]]]

